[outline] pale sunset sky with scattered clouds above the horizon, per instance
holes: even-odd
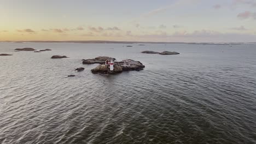
[[[256,0],[0,0],[0,41],[255,42]]]

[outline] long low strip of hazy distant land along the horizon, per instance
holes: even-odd
[[[2,43],[97,43],[97,44],[201,44],[201,45],[241,45],[241,44],[256,44],[252,43],[185,43],[185,42],[153,42],[153,41],[106,41],[106,40],[32,40],[32,41],[0,41]]]

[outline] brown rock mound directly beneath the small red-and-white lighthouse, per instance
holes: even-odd
[[[97,74],[117,74],[117,73],[122,73],[123,69],[119,65],[114,65],[114,70],[110,71],[108,68],[108,65],[101,64],[98,65],[96,68],[91,70],[92,73]]]

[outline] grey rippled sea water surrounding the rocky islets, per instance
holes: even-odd
[[[0,143],[256,143],[256,45],[132,45],[0,43]],[[95,75],[97,56],[146,68]]]

